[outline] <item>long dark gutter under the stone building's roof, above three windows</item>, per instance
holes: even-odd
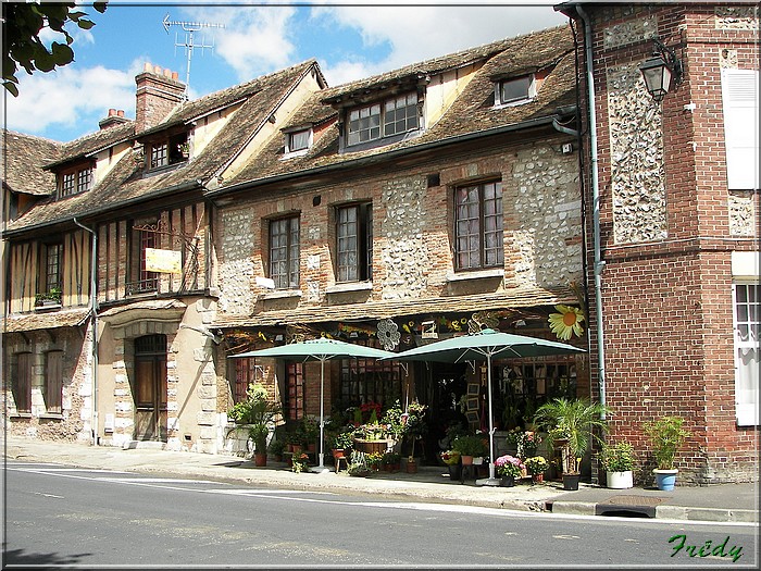
[[[278,174],[274,176],[265,176],[262,178],[252,178],[250,181],[246,181],[242,183],[237,183],[232,186],[226,186],[224,188],[211,190],[209,193],[205,193],[204,196],[209,198],[219,198],[227,194],[235,193],[237,190],[244,190],[248,188],[253,188],[257,186],[262,186],[265,184],[272,184],[272,183],[279,183],[283,181],[289,181],[292,178],[298,178],[298,177],[311,177],[317,174],[326,174],[326,173],[332,173],[336,171],[341,171],[345,169],[352,169],[357,166],[364,166],[364,165],[370,165],[373,163],[382,162],[382,161],[388,161],[392,160],[397,157],[403,157],[403,156],[409,156],[415,152],[422,152],[431,149],[438,149],[440,147],[446,147],[449,145],[454,145],[458,142],[467,142],[470,140],[474,139],[479,139],[483,137],[488,137],[488,136],[494,136],[494,135],[501,135],[504,133],[511,133],[511,132],[516,132],[516,131],[522,131],[526,128],[532,128],[532,127],[539,127],[539,126],[545,126],[545,125],[552,125],[554,122],[558,121],[559,117],[562,117],[564,115],[574,113],[576,111],[575,105],[566,105],[564,108],[558,109],[557,113],[548,116],[542,116],[538,119],[531,119],[528,121],[523,121],[521,123],[514,123],[511,125],[503,125],[501,127],[495,127],[487,131],[479,131],[476,133],[467,133],[465,135],[457,135],[454,137],[449,137],[446,139],[438,139],[432,142],[426,142],[423,145],[417,145],[414,147],[404,147],[402,149],[396,149],[392,151],[388,152],[383,152],[378,154],[373,154],[370,157],[361,157],[359,159],[351,159],[347,161],[341,161],[339,163],[335,164],[328,164],[325,166],[314,166],[312,169],[307,169],[304,171],[300,171],[297,173],[284,173],[284,174]]]

